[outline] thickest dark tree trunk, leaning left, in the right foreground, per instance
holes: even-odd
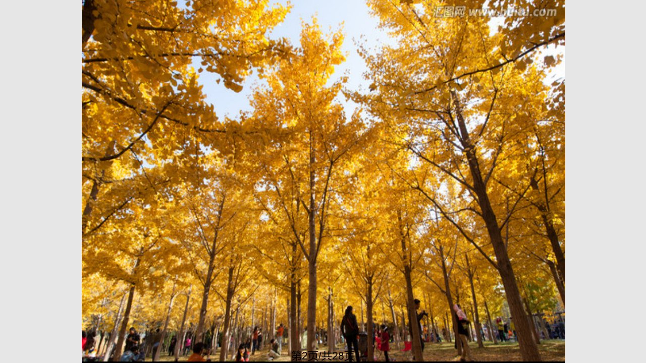
[[[468,129],[466,128],[466,121],[464,121],[464,117],[462,115],[457,93],[452,90],[451,96],[453,103],[455,104],[457,123],[461,135],[460,142],[462,143],[469,170],[473,178],[473,189],[477,196],[477,203],[479,204],[482,212],[481,216],[485,222],[492,247],[494,247],[498,272],[501,280],[503,281],[503,286],[505,287],[507,304],[509,305],[512,315],[519,317],[516,329],[518,331],[518,343],[521,356],[523,357],[523,360],[539,361],[541,360],[541,355],[538,351],[536,341],[531,338],[532,333],[530,329],[532,329],[532,327],[529,325],[525,309],[523,309],[523,302],[516,283],[514,269],[512,268],[509,255],[507,254],[505,242],[503,241],[503,236],[501,234],[494,209],[489,201],[485,180],[481,174],[477,156],[475,154],[475,148],[470,140]],[[525,316],[525,318],[522,318],[523,316]]]

